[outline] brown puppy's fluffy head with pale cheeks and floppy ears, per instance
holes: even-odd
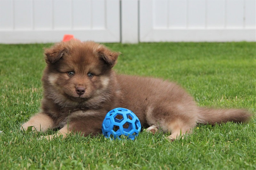
[[[66,105],[99,98],[108,89],[118,55],[93,41],[57,43],[45,49],[44,90]]]

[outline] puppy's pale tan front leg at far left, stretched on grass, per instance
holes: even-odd
[[[28,122],[21,125],[21,130],[27,130],[29,126],[33,126],[32,130],[45,132],[53,127],[52,118],[44,113],[38,113],[32,116]]]

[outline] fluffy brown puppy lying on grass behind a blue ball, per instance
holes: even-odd
[[[119,53],[92,41],[67,41],[45,49],[40,113],[22,125],[37,131],[60,128],[82,135],[101,133],[108,111],[132,110],[141,125],[155,133],[159,127],[170,139],[190,133],[196,123],[245,122],[251,114],[241,109],[198,107],[179,85],[156,78],[116,75],[112,67]],[[50,136],[50,138],[52,138]]]

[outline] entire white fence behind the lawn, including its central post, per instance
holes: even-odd
[[[256,41],[255,0],[0,0],[0,43]]]

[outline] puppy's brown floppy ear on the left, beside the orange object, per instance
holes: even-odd
[[[67,53],[67,49],[64,48],[61,44],[55,44],[51,48],[44,49],[45,61],[46,63],[55,63],[60,60],[61,57],[65,53]]]

